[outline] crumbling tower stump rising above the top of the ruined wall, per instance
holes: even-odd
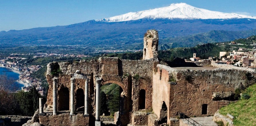
[[[144,35],[143,60],[158,60],[158,32],[157,30],[147,30]]]

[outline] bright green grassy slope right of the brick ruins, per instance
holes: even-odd
[[[256,84],[249,86],[248,94],[251,96],[248,100],[239,100],[231,103],[229,106],[220,108],[220,114],[233,115],[235,126],[255,126],[256,125]]]

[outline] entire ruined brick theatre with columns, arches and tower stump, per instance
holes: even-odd
[[[115,114],[117,125],[179,125],[179,113],[213,115],[229,103],[236,88],[254,82],[255,72],[247,69],[161,65],[157,46],[157,31],[148,30],[143,60],[101,57],[90,62],[49,63],[49,90],[46,104],[40,106],[40,124],[101,125],[100,88],[115,83],[123,90]]]

